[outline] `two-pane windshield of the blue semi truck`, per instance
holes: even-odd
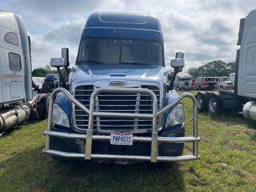
[[[163,49],[154,40],[84,38],[77,61],[163,66]]]

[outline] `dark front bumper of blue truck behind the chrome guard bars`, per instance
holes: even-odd
[[[84,145],[86,140],[69,139],[62,137],[63,130],[52,127],[52,135],[50,140],[50,149],[66,153],[82,153],[84,154]],[[72,134],[65,131],[66,134]],[[45,132],[47,135],[48,132]],[[56,135],[58,135],[56,137]],[[168,135],[175,135],[175,137],[185,136],[185,125],[182,123],[181,127],[175,130],[165,131],[159,137],[168,137]],[[136,135],[138,137],[148,137],[148,134]],[[181,156],[184,148],[184,143],[159,143],[158,152],[160,156]],[[151,145],[149,142],[134,142],[133,145],[111,145],[108,140],[93,140],[92,153],[94,154],[122,154],[122,155],[150,155]]]

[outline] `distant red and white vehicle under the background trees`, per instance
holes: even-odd
[[[217,77],[198,77],[192,79],[192,88],[198,90],[214,90],[218,87]]]

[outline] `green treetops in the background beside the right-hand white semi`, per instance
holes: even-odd
[[[230,73],[235,72],[236,62],[224,62],[222,60],[214,60],[205,65],[196,68],[192,67],[187,70],[187,73],[193,77],[229,77]]]

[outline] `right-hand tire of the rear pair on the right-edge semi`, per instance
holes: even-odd
[[[219,93],[211,93],[207,100],[207,109],[210,115],[221,115],[222,102]]]

